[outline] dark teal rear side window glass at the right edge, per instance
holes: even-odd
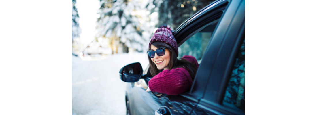
[[[244,111],[244,42],[236,56],[236,61],[231,72],[230,80],[223,99],[223,105]]]

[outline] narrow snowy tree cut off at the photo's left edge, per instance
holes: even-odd
[[[72,0],[72,53],[78,55],[80,39],[79,34],[81,33],[81,28],[79,27],[79,15],[75,7],[76,0]]]

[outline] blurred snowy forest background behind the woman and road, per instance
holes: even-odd
[[[145,52],[161,25],[175,30],[214,0],[100,0],[96,34],[90,44],[81,42],[80,15],[72,0],[72,54],[75,56]]]

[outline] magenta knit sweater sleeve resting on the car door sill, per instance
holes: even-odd
[[[163,70],[149,81],[151,91],[164,93],[168,95],[178,95],[187,91],[193,81],[187,70],[176,68],[172,70]]]

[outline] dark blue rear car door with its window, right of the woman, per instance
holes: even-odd
[[[192,113],[195,115],[244,114],[245,111],[245,1],[229,2],[206,50],[209,55],[204,59],[209,60],[202,60],[208,72],[196,75],[209,77],[194,81],[191,93],[203,95]],[[205,85],[206,89],[195,87],[199,85]]]

